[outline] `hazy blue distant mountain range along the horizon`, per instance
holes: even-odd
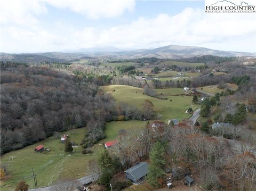
[[[157,57],[159,59],[182,59],[193,56],[214,55],[222,57],[253,56],[256,53],[218,51],[197,46],[169,45],[152,49],[122,50],[114,47],[82,48],[76,51],[9,54],[1,53],[2,61],[18,61],[27,63],[70,62],[83,58],[95,58],[99,56],[115,57],[117,59],[137,59],[141,57]]]

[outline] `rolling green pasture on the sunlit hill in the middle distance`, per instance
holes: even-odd
[[[190,115],[186,114],[186,110],[189,107],[195,109],[196,105],[192,104],[192,97],[190,96],[166,96],[168,99],[158,99],[154,97],[150,97],[147,95],[143,95],[143,89],[132,87],[132,86],[123,86],[123,85],[110,85],[103,86],[103,90],[107,93],[110,93],[117,102],[123,102],[131,105],[137,106],[142,110],[142,103],[148,99],[154,104],[154,111],[156,113],[162,114],[162,120],[167,122],[168,119],[187,119]],[[113,90],[115,89],[115,92]],[[169,89],[170,94],[172,93],[172,88]],[[161,93],[166,90],[157,90],[157,93]],[[137,93],[136,93],[137,92]],[[181,91],[176,88],[173,89],[173,93],[180,93]],[[172,99],[172,102],[170,102]]]

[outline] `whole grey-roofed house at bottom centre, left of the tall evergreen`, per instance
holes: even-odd
[[[126,179],[131,180],[134,183],[139,183],[145,179],[148,173],[148,163],[138,162],[130,169],[127,169],[125,172]]]

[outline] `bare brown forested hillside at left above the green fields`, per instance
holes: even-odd
[[[115,102],[98,86],[67,71],[1,63],[2,154],[33,144],[55,131],[83,127],[90,120],[98,124],[117,114],[142,118],[135,108],[118,106],[118,113],[115,108]],[[103,126],[99,128],[92,133],[103,134]]]

